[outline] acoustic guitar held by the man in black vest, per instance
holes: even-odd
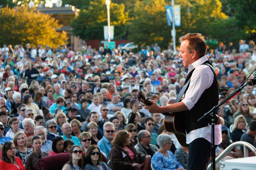
[[[138,100],[145,104],[146,106],[151,106],[152,102],[149,98],[145,98],[145,94],[143,91],[139,91],[138,93]],[[170,99],[168,105],[174,104],[175,99]],[[177,137],[177,140],[183,147],[188,147],[189,145],[186,144],[186,127],[185,127],[185,113],[181,112],[174,112],[174,113],[162,113],[164,115],[164,128],[167,132],[172,132]]]

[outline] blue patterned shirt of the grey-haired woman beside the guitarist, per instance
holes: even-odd
[[[154,153],[151,162],[157,170],[176,170],[183,168],[171,151],[167,151],[168,157],[160,152]]]

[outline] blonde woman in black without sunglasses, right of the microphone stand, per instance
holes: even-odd
[[[231,133],[231,139],[233,142],[240,141],[241,136],[246,132],[247,126],[248,124],[243,115],[239,115],[235,118]]]

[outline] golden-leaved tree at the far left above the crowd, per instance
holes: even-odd
[[[1,9],[0,44],[49,45],[57,47],[67,40],[65,32],[57,32],[61,25],[50,15],[35,12],[27,5]]]

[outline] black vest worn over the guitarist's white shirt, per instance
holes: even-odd
[[[211,63],[209,61],[206,61],[203,64],[207,65],[206,63],[211,65]],[[202,96],[199,98],[199,100],[196,102],[195,106],[191,110],[185,111],[186,132],[187,133],[191,132],[192,130],[208,126],[208,123],[210,124],[210,122],[211,122],[210,117],[208,117],[207,119],[203,119],[200,122],[197,122],[197,120],[200,117],[202,117],[206,112],[208,112],[209,110],[211,110],[214,106],[216,106],[218,104],[217,76],[216,76],[213,68],[210,67],[210,69],[211,69],[211,71],[213,71],[213,75],[214,75],[213,84],[210,86],[210,88],[206,89],[203,92]],[[189,78],[191,77],[194,70],[195,69],[193,69],[186,76],[185,83],[186,83],[186,81],[189,80]],[[220,119],[220,118],[218,118],[218,119]],[[218,121],[218,122],[220,122],[220,121]]]

